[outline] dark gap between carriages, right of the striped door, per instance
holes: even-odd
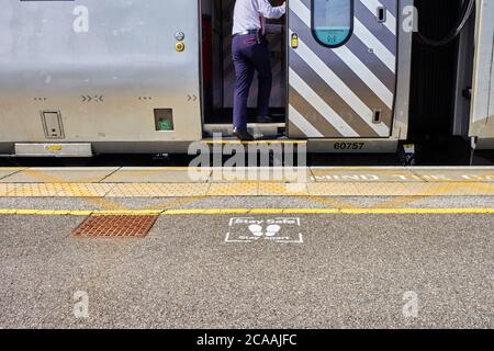
[[[418,33],[412,56],[409,139],[429,158],[456,147],[458,152],[469,150],[475,26],[475,11],[468,12],[471,4],[415,1]]]

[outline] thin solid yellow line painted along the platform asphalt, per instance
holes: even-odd
[[[89,216],[89,215],[451,215],[494,214],[494,207],[465,208],[184,208],[184,210],[125,210],[125,211],[71,211],[0,208],[0,215],[24,216]]]

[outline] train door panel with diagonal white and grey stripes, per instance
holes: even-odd
[[[294,138],[389,137],[396,89],[397,0],[355,0],[353,33],[340,47],[312,34],[313,0],[290,0],[289,135]],[[380,23],[378,8],[385,7]],[[380,120],[375,121],[375,112]]]

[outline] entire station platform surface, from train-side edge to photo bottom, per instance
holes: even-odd
[[[0,328],[494,327],[494,168],[189,171],[1,168]],[[102,215],[159,217],[71,235]]]

